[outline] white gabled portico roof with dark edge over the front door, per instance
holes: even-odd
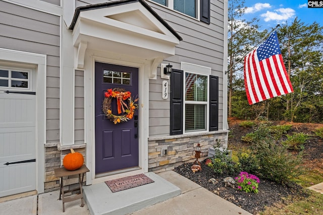
[[[69,29],[73,45],[79,49],[78,58],[82,52],[84,57],[86,49],[94,49],[161,62],[175,55],[175,46],[182,40],[142,0],[79,7]]]

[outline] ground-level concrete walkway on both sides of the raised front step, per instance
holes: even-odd
[[[251,214],[237,205],[221,198],[220,196],[206,190],[191,180],[175,173],[167,171],[157,174],[165,178],[181,189],[181,194],[160,203],[139,209],[130,214]],[[145,185],[143,185],[145,186]],[[122,192],[122,191],[121,191]],[[62,200],[58,200],[59,190],[32,195],[20,199],[0,203],[1,215],[87,215],[90,214],[87,205],[80,207],[81,200],[65,203],[63,213]],[[130,215],[129,214],[129,215]],[[121,215],[121,214],[120,214]]]

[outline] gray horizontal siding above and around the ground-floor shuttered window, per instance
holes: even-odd
[[[156,4],[147,3],[183,38],[176,46],[176,55],[165,61],[173,64],[173,68],[176,69],[180,69],[181,62],[211,67],[211,74],[219,77],[219,127],[222,128],[225,31],[223,1],[211,1],[209,25]],[[149,80],[149,136],[169,135],[170,132],[170,101],[161,98],[163,79],[160,79],[159,74],[157,73],[157,80]]]

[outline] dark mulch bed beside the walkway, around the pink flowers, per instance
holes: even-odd
[[[253,214],[264,210],[265,206],[271,206],[281,201],[282,197],[306,196],[298,185],[284,186],[261,178],[258,187],[259,192],[257,194],[246,193],[236,188],[224,186],[224,178],[228,176],[235,178],[237,175],[216,175],[211,168],[204,165],[204,162],[201,162],[202,171],[193,173],[192,165],[193,163],[183,164],[175,168],[174,171]],[[215,178],[217,182],[214,184],[208,182],[210,178]]]

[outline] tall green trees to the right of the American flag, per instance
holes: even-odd
[[[291,25],[284,24],[278,31],[285,66],[291,78],[294,93],[286,100],[286,120],[311,121],[322,110],[322,45],[323,27],[314,22],[305,25],[297,18]],[[306,114],[300,114],[306,111]]]

